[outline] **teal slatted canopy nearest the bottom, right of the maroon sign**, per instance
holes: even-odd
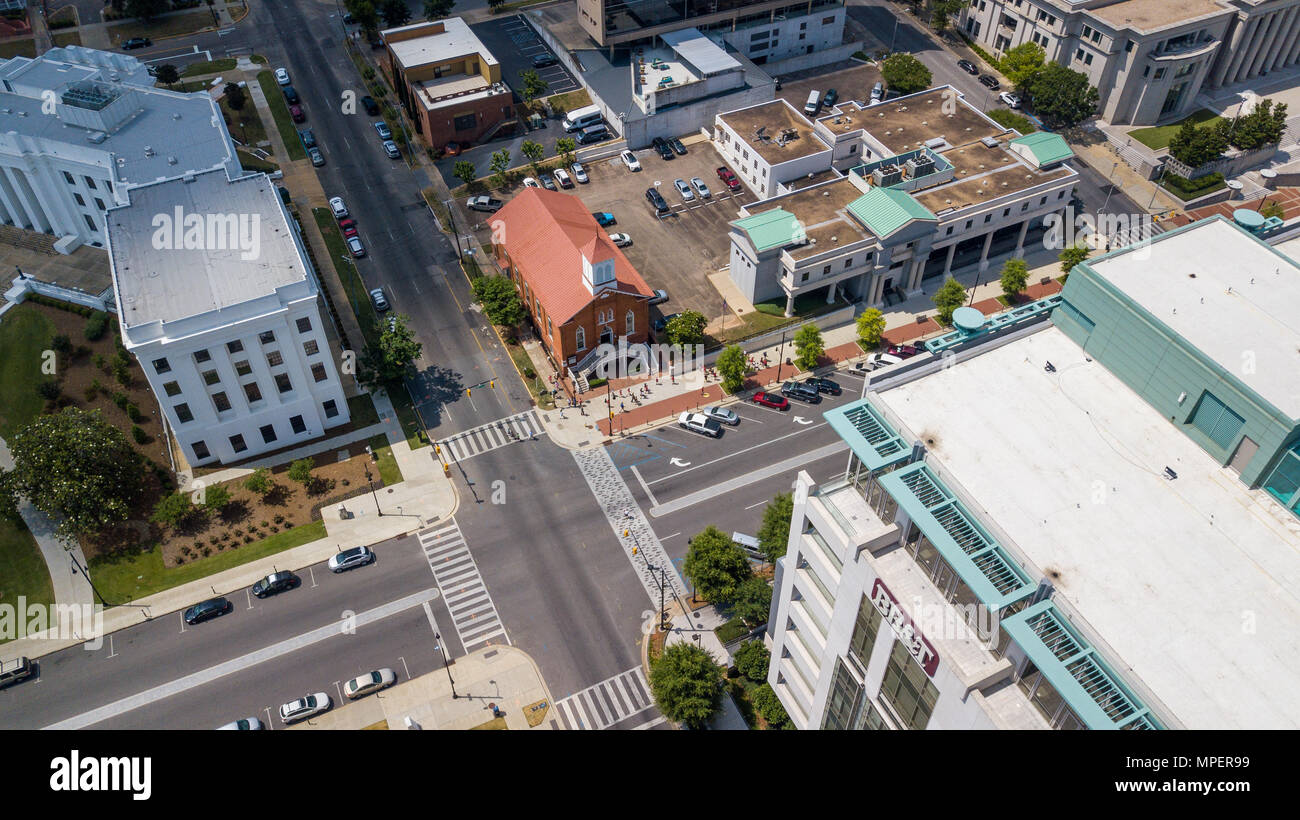
[[[1089,729],[1164,728],[1050,600],[1001,625]]]

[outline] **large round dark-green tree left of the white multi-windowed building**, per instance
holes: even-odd
[[[38,416],[9,437],[14,467],[0,491],[58,519],[70,539],[126,521],[140,496],[144,468],[126,435],[100,416],[69,407]]]

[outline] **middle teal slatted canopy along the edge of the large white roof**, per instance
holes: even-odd
[[[916,461],[878,481],[985,607],[1001,612],[1008,604],[1034,595],[1037,585],[980,526],[928,464]]]

